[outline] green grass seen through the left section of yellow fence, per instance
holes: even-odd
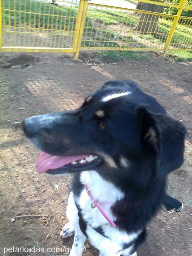
[[[75,20],[69,16],[76,17],[77,8],[60,7],[38,1],[3,1],[2,25],[9,26],[30,26],[35,28],[74,30]],[[6,10],[9,9],[9,10]],[[20,10],[21,12],[14,12]],[[26,12],[27,11],[27,12]],[[29,13],[31,12],[31,13]],[[35,14],[37,13],[37,14]],[[41,15],[38,13],[42,13]],[[46,15],[43,15],[46,14]]]

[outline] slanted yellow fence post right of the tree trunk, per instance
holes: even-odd
[[[169,45],[170,45],[170,43],[171,43],[171,41],[172,41],[172,38],[173,38],[173,35],[174,35],[174,31],[176,30],[176,27],[177,27],[179,18],[180,18],[180,16],[181,16],[181,12],[182,12],[182,10],[183,10],[183,8],[184,8],[185,1],[186,1],[186,0],[180,0],[180,3],[179,3],[179,5],[178,5],[177,14],[176,14],[176,16],[174,17],[172,27],[171,27],[171,29],[170,29],[169,35],[168,35],[167,40],[166,40],[166,43],[165,43],[165,50],[164,50],[164,52],[163,52],[163,57],[166,56],[167,50],[168,50]]]

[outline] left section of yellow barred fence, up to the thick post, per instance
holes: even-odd
[[[84,1],[0,0],[4,52],[76,52]]]

